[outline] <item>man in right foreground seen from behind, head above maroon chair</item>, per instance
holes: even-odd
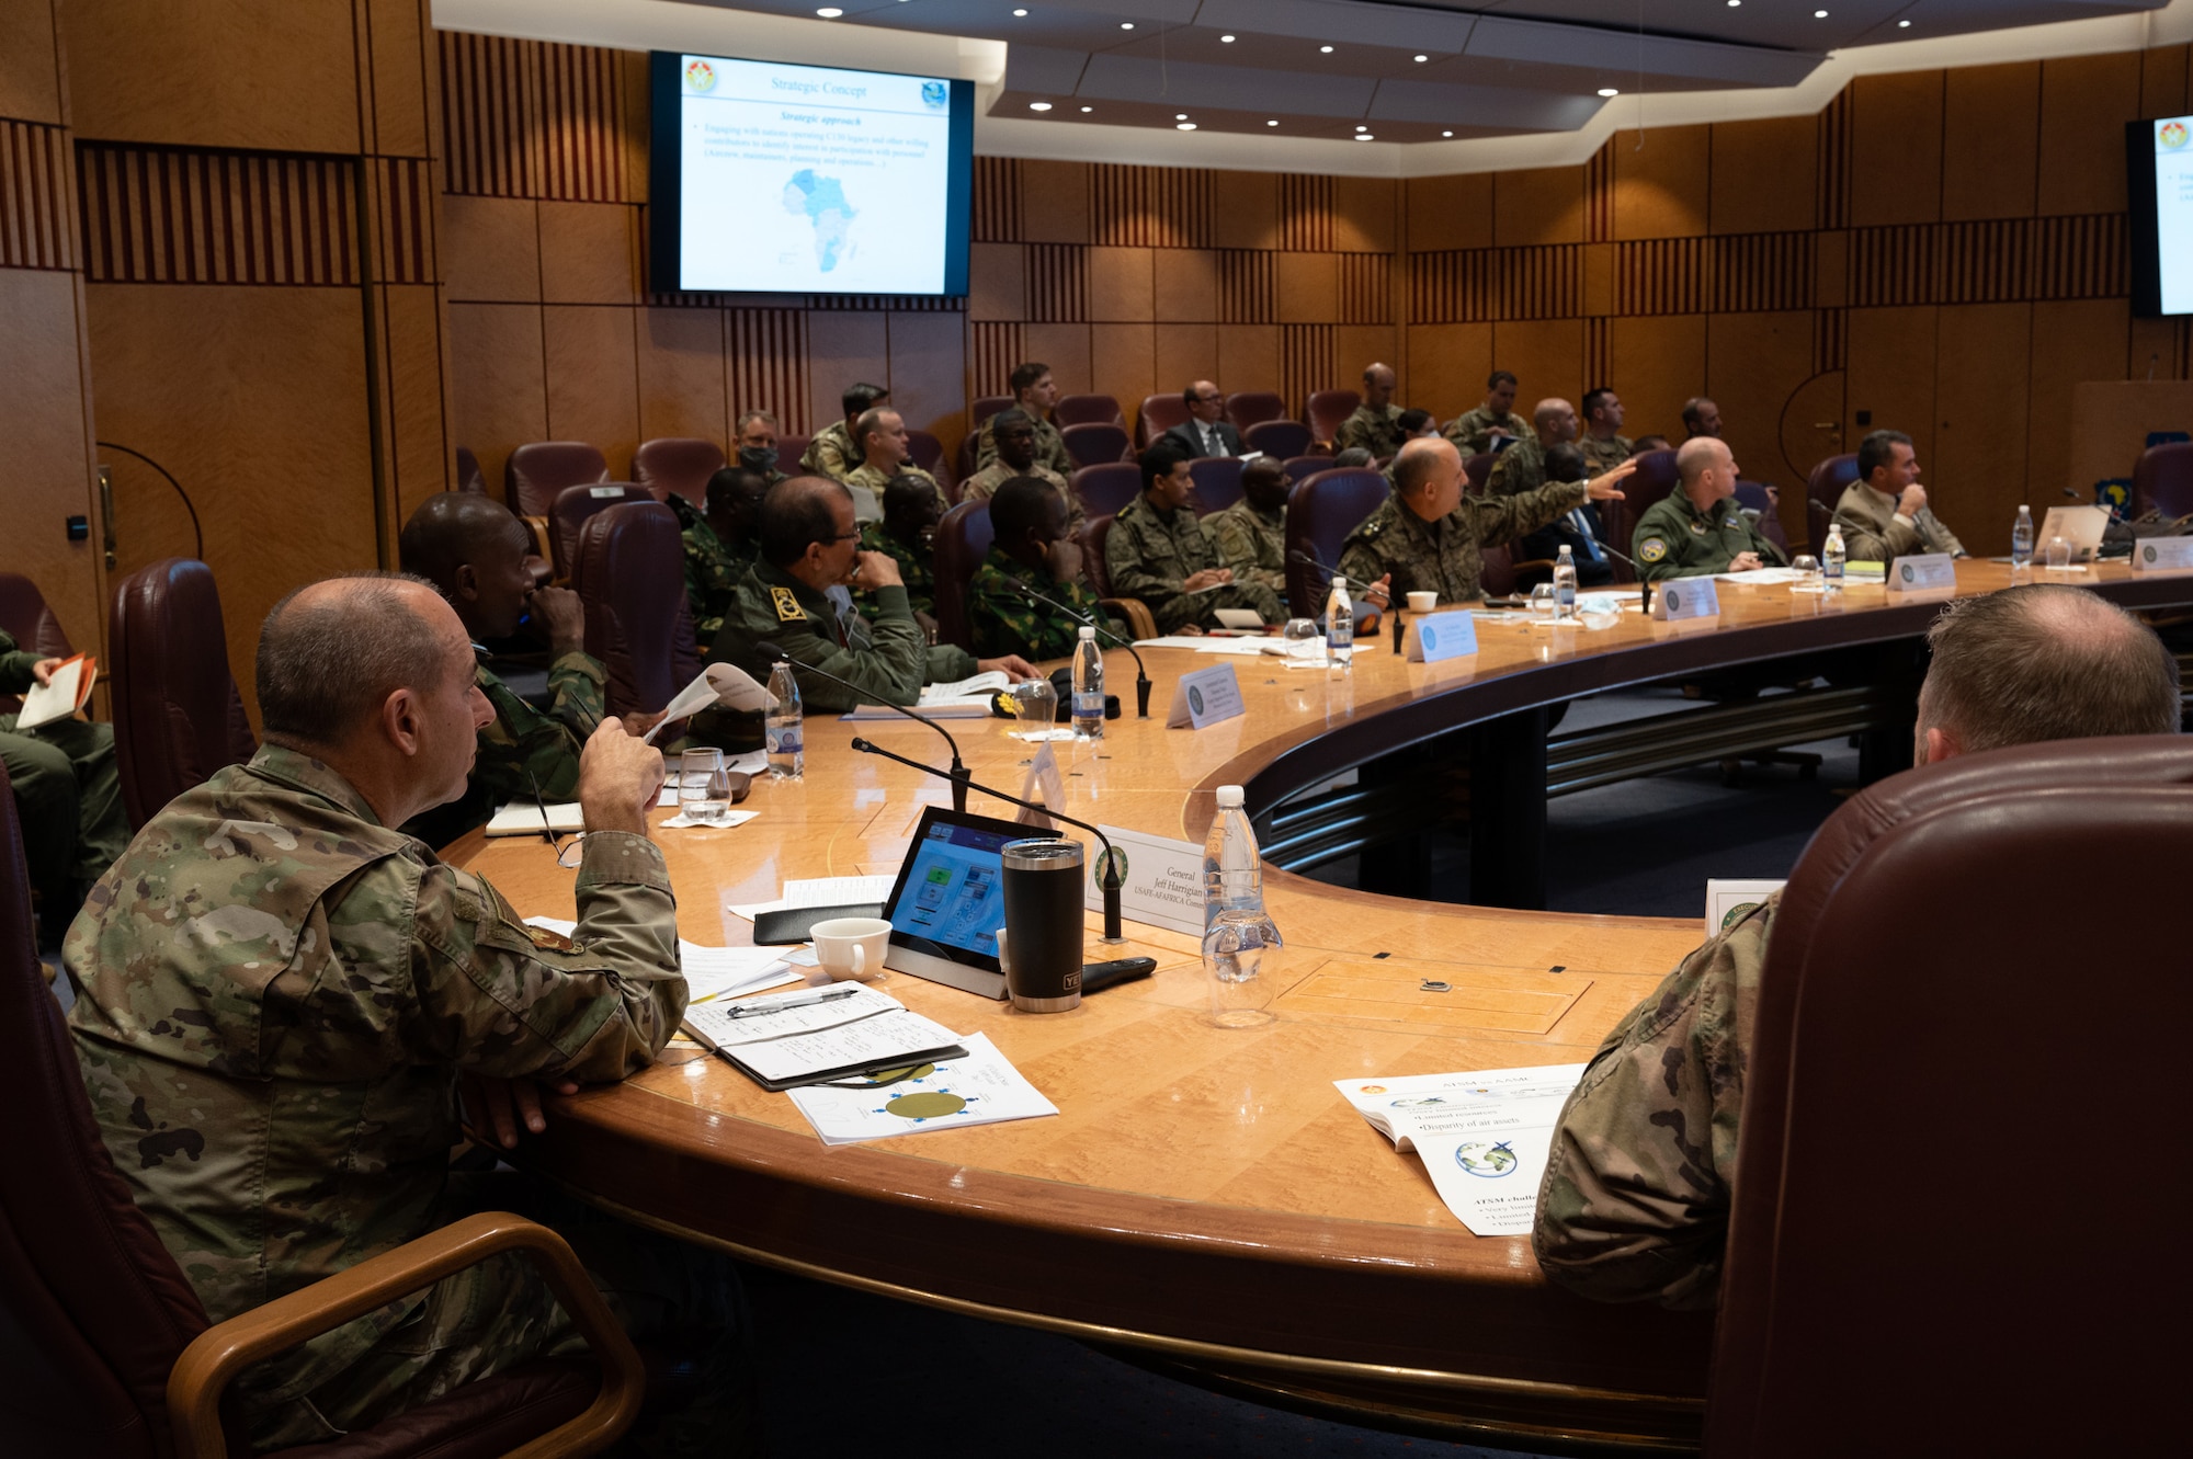
[[[2039,740],[2178,734],[2178,662],[2086,589],[1963,598],[1928,644],[1919,765]],[[1537,1264],[1561,1286],[1599,1301],[1719,1301],[1743,1067],[1779,909],[1781,892],[1691,953],[1607,1034],[1568,1095],[1531,1233]]]

